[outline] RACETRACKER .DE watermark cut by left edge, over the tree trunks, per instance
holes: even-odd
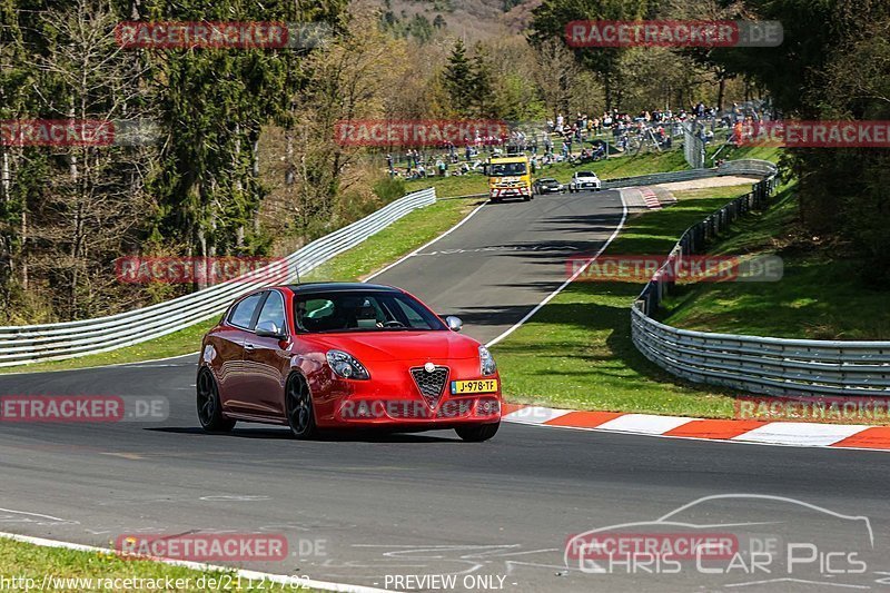
[[[160,127],[150,120],[0,120],[2,146],[147,146],[159,138]]]

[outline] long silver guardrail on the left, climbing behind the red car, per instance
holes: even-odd
[[[412,210],[436,201],[435,188],[408,194],[376,213],[314,240],[284,261],[305,275],[360,244]],[[280,263],[274,264],[280,266]],[[58,324],[0,327],[0,366],[100,354],[147,342],[220,315],[231,300],[269,284],[264,270],[117,315]],[[256,278],[256,279],[254,279]],[[289,279],[289,278],[288,278]]]

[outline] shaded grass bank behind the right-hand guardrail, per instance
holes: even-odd
[[[795,187],[775,205],[733,227],[715,255],[778,255],[777,283],[721,283],[678,287],[662,315],[676,327],[755,336],[811,339],[890,339],[887,290],[868,286],[862,264],[834,246],[794,235]]]

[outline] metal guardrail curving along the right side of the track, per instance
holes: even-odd
[[[669,373],[767,395],[890,396],[890,342],[785,339],[679,329],[651,315],[671,289],[664,268],[701,253],[745,211],[765,206],[775,188],[775,167],[765,161],[734,161],[722,170],[764,177],[750,194],[732,200],[686,229],[664,266],[646,284],[631,310],[636,348]]]

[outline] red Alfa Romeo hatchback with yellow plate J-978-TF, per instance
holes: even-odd
[[[238,298],[201,344],[198,418],[324,428],[454,428],[487,441],[501,424],[491,353],[405,290],[319,283]]]

